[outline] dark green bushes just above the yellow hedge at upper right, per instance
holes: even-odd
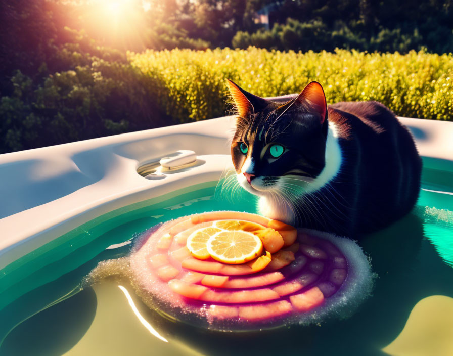
[[[381,51],[407,53],[411,50],[429,49],[435,53],[444,53],[453,46],[453,32],[445,26],[433,26],[425,23],[417,25],[402,23],[400,28],[380,26],[374,33],[361,31],[363,24],[357,22],[353,28],[343,21],[335,21],[329,28],[321,20],[300,22],[287,19],[285,24],[276,23],[271,30],[259,29],[248,33],[238,31],[232,39],[233,48],[246,49],[249,46],[282,51],[334,51],[335,48],[355,49],[358,51]],[[442,38],[441,41],[435,38]]]

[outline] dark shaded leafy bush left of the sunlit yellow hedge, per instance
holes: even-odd
[[[37,83],[17,71],[11,82],[13,93],[0,100],[0,153],[171,123],[154,101],[153,79],[128,63],[93,57]]]

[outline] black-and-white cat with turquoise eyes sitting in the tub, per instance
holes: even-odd
[[[411,211],[422,160],[383,104],[327,106],[315,81],[284,104],[228,83],[238,114],[233,164],[262,215],[357,238]]]

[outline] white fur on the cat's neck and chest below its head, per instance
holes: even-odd
[[[338,143],[338,131],[335,124],[329,122],[326,141],[326,164],[321,173],[313,180],[304,182],[300,177],[280,177],[277,188],[273,194],[263,194],[258,202],[259,212],[271,219],[294,224],[303,217],[303,197],[305,194],[319,190],[328,184],[337,175],[341,167],[342,154]],[[291,179],[291,184],[297,184],[291,192],[283,192],[285,179]],[[300,179],[298,181],[297,179]],[[280,192],[279,192],[280,190]]]

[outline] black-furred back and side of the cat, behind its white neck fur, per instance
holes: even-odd
[[[327,230],[355,236],[410,212],[420,191],[422,160],[409,130],[378,102],[342,102],[328,112],[340,128],[343,163],[331,187],[314,194],[334,196],[333,205],[346,216],[334,215]]]

